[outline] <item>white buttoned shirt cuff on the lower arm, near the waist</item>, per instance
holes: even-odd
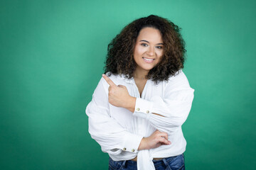
[[[139,144],[142,141],[143,136],[127,133],[124,137],[123,151],[127,152],[138,152]]]

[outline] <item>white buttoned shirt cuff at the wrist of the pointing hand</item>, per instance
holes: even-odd
[[[151,115],[153,103],[142,98],[136,98],[134,115],[140,118],[147,118]]]

